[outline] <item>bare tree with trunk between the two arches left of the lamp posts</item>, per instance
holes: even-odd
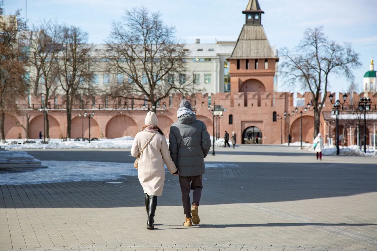
[[[87,44],[88,34],[75,26],[60,28],[61,51],[57,64],[58,80],[64,92],[67,116],[67,140],[70,140],[72,108],[80,95],[91,90],[93,79],[92,45]]]

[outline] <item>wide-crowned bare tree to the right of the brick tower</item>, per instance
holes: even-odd
[[[290,52],[282,49],[281,73],[287,78],[289,86],[299,85],[303,90],[310,90],[314,106],[314,134],[319,132],[320,113],[326,100],[329,76],[342,75],[351,80],[351,68],[359,67],[359,54],[351,44],[339,44],[328,40],[323,27],[307,29],[299,46]],[[321,93],[324,95],[321,97]]]

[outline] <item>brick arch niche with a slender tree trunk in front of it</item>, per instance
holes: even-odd
[[[49,133],[50,138],[52,139],[58,139],[60,138],[60,124],[59,122],[50,115],[48,116],[48,122],[49,122]],[[42,132],[42,135],[44,136],[44,129],[43,129],[43,114],[35,116],[29,124],[29,138],[31,139],[38,139],[39,138],[39,132]]]

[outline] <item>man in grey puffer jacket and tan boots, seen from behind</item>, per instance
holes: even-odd
[[[181,101],[177,118],[178,122],[170,127],[170,156],[179,170],[179,185],[186,215],[183,225],[191,227],[192,223],[199,224],[198,206],[203,188],[202,174],[205,173],[204,158],[211,148],[211,139],[204,122],[196,119],[189,101]],[[192,207],[190,189],[193,190]]]

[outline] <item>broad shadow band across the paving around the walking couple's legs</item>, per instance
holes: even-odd
[[[236,164],[239,167],[207,168],[203,176],[202,205],[279,202],[377,191],[375,164],[323,162],[237,162]],[[144,193],[138,177],[125,176],[125,178],[118,180],[123,182],[122,184],[106,184],[108,181],[80,181],[3,185],[0,186],[2,194],[0,208],[144,206]],[[158,199],[158,205],[182,205],[181,190],[176,176],[166,176],[164,192]]]

